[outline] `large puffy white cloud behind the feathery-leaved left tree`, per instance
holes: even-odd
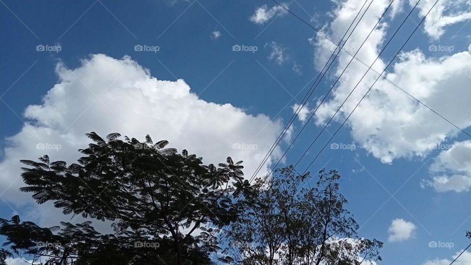
[[[58,63],[55,72],[58,83],[40,105],[26,108],[26,123],[7,139],[0,161],[2,198],[17,206],[35,205],[31,194],[18,191],[24,186],[19,160],[48,154],[52,160],[74,162],[80,157],[77,150],[89,143],[87,132],[120,132],[141,140],[150,134],[203,157],[206,164],[227,156],[244,160],[244,172],[251,175],[282,130],[280,121],[266,115],[200,99],[183,79],[159,80],[129,56],[95,54],[73,70]],[[275,153],[273,159],[280,151]]]

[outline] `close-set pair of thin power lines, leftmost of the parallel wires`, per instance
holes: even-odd
[[[319,75],[317,75],[316,79],[314,80],[314,83],[313,85],[311,86],[311,88],[308,90],[308,92],[306,93],[306,95],[304,96],[303,100],[301,101],[301,104],[296,108],[296,111],[294,111],[293,115],[291,116],[291,118],[289,119],[289,122],[287,123],[287,125],[285,126],[285,128],[283,129],[283,131],[280,133],[280,135],[277,137],[277,139],[275,140],[275,143],[273,143],[273,145],[271,146],[270,150],[267,152],[267,154],[265,155],[265,157],[263,158],[262,162],[260,163],[260,165],[257,167],[257,169],[255,170],[254,174],[252,175],[252,177],[250,178],[249,180],[249,183],[252,183],[252,181],[254,180],[254,178],[257,176],[257,174],[260,172],[260,170],[262,170],[263,168],[263,165],[265,164],[265,162],[268,160],[268,158],[271,156],[271,154],[275,151],[275,148],[277,147],[277,145],[280,143],[281,139],[285,136],[286,132],[288,132],[288,129],[289,127],[291,126],[291,124],[294,122],[294,120],[296,119],[296,116],[299,112],[301,112],[301,110],[303,109],[303,107],[307,104],[309,98],[311,97],[311,95],[313,94],[315,88],[317,87],[317,85],[320,83],[320,80],[324,77],[324,75],[327,73],[327,71],[330,69],[331,65],[334,63],[335,59],[337,58],[338,54],[340,53],[340,49],[338,50],[337,52],[337,49],[340,47],[343,47],[343,45],[345,45],[345,43],[348,41],[348,39],[350,38],[350,36],[352,35],[353,33],[353,30],[355,30],[355,28],[350,32],[350,35],[347,37],[347,39],[343,42],[342,44],[342,41],[343,39],[345,38],[345,36],[347,35],[348,31],[350,30],[350,28],[353,26],[353,24],[355,23],[356,19],[358,18],[358,16],[360,15],[361,11],[363,10],[363,7],[365,7],[365,4],[368,0],[365,0],[365,2],[363,3],[362,5],[362,8],[360,8],[360,10],[358,11],[357,15],[355,16],[355,18],[353,19],[352,23],[350,24],[350,26],[347,28],[347,30],[345,31],[345,34],[343,34],[342,38],[340,39],[340,42],[339,42],[339,45],[336,44],[336,49],[333,51],[333,53],[330,55],[329,59],[327,60],[327,62],[325,63],[324,67],[322,68],[322,70],[319,72]],[[371,5],[373,1],[370,2],[370,4],[368,5],[368,7],[366,8],[366,10],[368,10],[369,6]],[[366,10],[365,10],[365,13],[366,13]],[[365,13],[363,15],[365,15]],[[362,16],[363,18],[363,16]],[[360,23],[361,19],[358,21],[357,25]],[[356,26],[355,26],[356,27]],[[341,46],[340,46],[341,45]],[[337,54],[336,54],[337,52]],[[335,54],[335,57],[334,59],[332,59],[332,56],[334,56]],[[332,61],[331,61],[332,59]],[[329,64],[330,62],[330,64]],[[327,67],[327,65],[329,65]],[[327,67],[327,69],[325,70],[324,72],[324,69]],[[321,77],[321,74],[324,73]],[[319,77],[320,80],[319,80]],[[317,80],[319,80],[319,82],[317,82]],[[316,82],[317,82],[317,85],[316,85]],[[314,86],[315,85],[315,86]],[[313,88],[314,87],[314,88]]]

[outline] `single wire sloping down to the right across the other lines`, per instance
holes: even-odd
[[[294,17],[296,17],[299,21],[301,21],[302,23],[306,24],[308,27],[311,27],[312,29],[314,29],[315,32],[317,32],[318,34],[320,34],[322,37],[324,37],[325,39],[327,39],[328,41],[332,42],[334,45],[337,45],[331,38],[329,38],[327,35],[325,35],[324,33],[322,33],[320,30],[318,30],[317,28],[315,28],[313,25],[311,25],[310,23],[306,22],[304,19],[302,19],[301,17],[299,17],[297,14],[295,14],[294,12],[292,12],[291,10],[289,10],[288,8],[286,8],[284,5],[280,4],[278,1],[276,0],[272,0],[273,2],[275,2],[276,4],[278,4],[279,6],[281,6],[282,8],[284,8],[288,13],[290,13],[291,15],[293,15]],[[337,45],[338,46],[338,45]],[[365,65],[366,67],[369,68],[369,65],[367,65],[363,60],[357,58],[354,54],[350,53],[348,50],[345,50],[343,49],[343,47],[340,47],[341,50],[343,50],[345,53],[347,53],[348,55],[352,56],[354,59],[356,59],[357,61],[359,61],[360,63],[362,63],[363,65]],[[465,134],[467,134],[468,136],[471,137],[471,134],[469,134],[468,132],[465,132],[463,129],[461,129],[460,127],[456,126],[454,123],[452,123],[450,120],[448,120],[447,118],[445,118],[443,115],[439,114],[437,111],[433,110],[432,108],[430,108],[429,106],[425,105],[425,103],[421,102],[419,99],[417,99],[416,97],[414,97],[413,95],[411,95],[410,93],[408,93],[407,91],[405,91],[403,88],[401,88],[399,85],[397,85],[396,83],[394,83],[392,80],[388,79],[386,76],[383,76],[383,74],[380,74],[378,71],[376,71],[375,69],[370,69],[371,71],[373,71],[374,73],[376,73],[377,75],[379,75],[381,78],[385,79],[386,81],[388,81],[389,83],[391,83],[393,86],[395,86],[396,88],[398,88],[399,90],[401,90],[402,92],[404,92],[406,95],[408,95],[409,97],[413,98],[414,100],[416,100],[420,105],[422,106],[425,106],[426,108],[428,108],[429,110],[431,110],[433,113],[437,114],[438,116],[440,116],[442,119],[444,119],[446,122],[448,122],[449,124],[451,124],[453,127],[455,127],[456,129],[460,130],[461,132],[464,132]]]

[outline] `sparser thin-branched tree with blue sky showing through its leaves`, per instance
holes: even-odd
[[[269,182],[247,195],[250,207],[228,230],[229,248],[243,265],[359,265],[381,260],[376,239],[357,238],[358,224],[345,209],[340,175],[319,171],[314,187],[300,187],[310,173],[296,175],[293,166],[276,169]]]

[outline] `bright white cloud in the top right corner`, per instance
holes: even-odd
[[[414,6],[417,0],[409,0]],[[423,17],[436,0],[421,0],[419,16]],[[440,38],[445,27],[471,19],[471,4],[469,0],[440,0],[425,18],[425,32],[433,39]]]

